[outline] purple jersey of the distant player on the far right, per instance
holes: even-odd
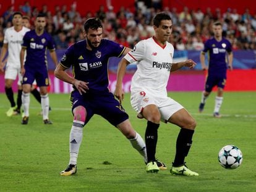
[[[226,74],[227,70],[227,57],[226,53],[232,51],[231,43],[222,38],[221,41],[217,41],[215,38],[211,38],[205,42],[205,48],[203,52],[208,52],[208,73],[221,73]]]

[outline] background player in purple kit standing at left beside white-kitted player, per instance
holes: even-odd
[[[46,61],[46,50],[55,65],[58,65],[58,59],[55,52],[53,38],[45,31],[46,17],[38,14],[35,20],[35,30],[28,31],[23,37],[22,50],[20,51],[20,67],[22,73],[22,104],[24,117],[22,124],[28,123],[30,91],[34,80],[40,88],[41,107],[43,110],[43,122],[52,124],[49,120],[49,97],[47,87],[49,86],[48,67]],[[24,64],[25,51],[27,56]]]

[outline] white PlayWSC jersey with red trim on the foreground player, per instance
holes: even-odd
[[[166,42],[162,47],[154,38],[139,41],[124,57],[130,63],[137,62],[131,90],[147,88],[167,94],[166,86],[173,64],[173,53],[174,48],[171,43]]]

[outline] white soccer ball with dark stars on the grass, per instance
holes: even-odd
[[[225,169],[236,169],[242,164],[242,152],[237,146],[228,144],[220,149],[218,160]]]

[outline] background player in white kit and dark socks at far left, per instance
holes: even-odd
[[[20,50],[23,42],[23,36],[30,29],[23,27],[22,25],[22,14],[20,12],[14,12],[12,15],[12,24],[14,26],[7,28],[4,33],[4,45],[0,55],[0,70],[4,71],[6,65],[6,71],[4,75],[5,79],[5,91],[6,96],[11,103],[11,108],[6,112],[8,117],[20,112],[20,106],[22,104],[22,76],[20,74]],[[6,53],[8,51],[7,64],[4,61]],[[14,92],[12,90],[12,83],[19,76],[18,81],[18,96],[17,106],[14,101]]]

